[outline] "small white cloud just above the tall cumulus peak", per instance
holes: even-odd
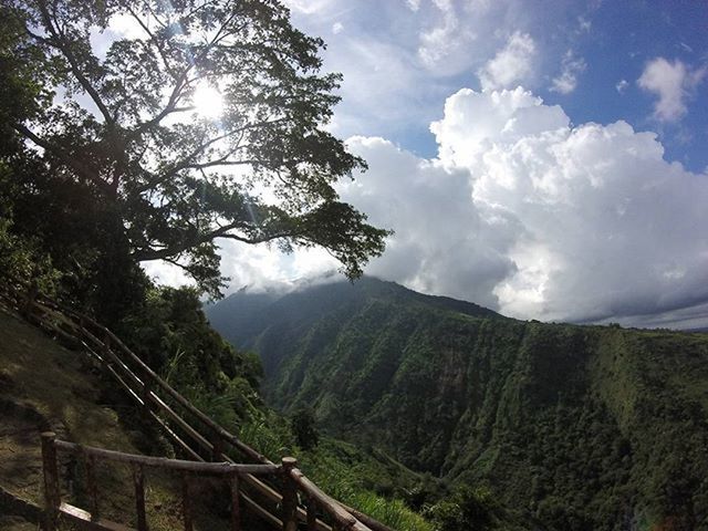
[[[514,32],[503,49],[477,73],[483,90],[507,88],[533,72],[535,43],[528,33]]]

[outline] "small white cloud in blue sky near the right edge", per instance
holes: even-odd
[[[679,60],[670,63],[656,58],[646,64],[637,84],[658,96],[654,105],[654,116],[658,121],[677,122],[686,114],[686,100],[706,73],[706,67],[690,70]]]

